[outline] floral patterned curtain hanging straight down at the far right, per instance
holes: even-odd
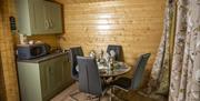
[[[169,101],[200,101],[200,0],[178,0]]]

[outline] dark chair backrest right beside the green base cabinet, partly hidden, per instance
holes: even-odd
[[[81,47],[73,47],[73,48],[70,48],[70,61],[71,61],[71,77],[74,79],[74,80],[78,80],[78,71],[76,69],[78,62],[77,62],[77,57],[80,55],[80,57],[83,57],[83,52],[82,52],[82,48]]]

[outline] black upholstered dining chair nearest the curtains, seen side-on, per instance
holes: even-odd
[[[150,55],[150,53],[141,54],[138,59],[136,71],[133,72],[132,78],[119,78],[112,82],[112,85],[124,91],[137,90],[141,84],[144,68]]]

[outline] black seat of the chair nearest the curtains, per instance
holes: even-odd
[[[131,79],[122,77],[113,81],[112,84],[128,90],[131,87]]]

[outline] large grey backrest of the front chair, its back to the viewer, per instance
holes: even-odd
[[[79,89],[94,95],[102,93],[101,79],[94,58],[78,57]]]

